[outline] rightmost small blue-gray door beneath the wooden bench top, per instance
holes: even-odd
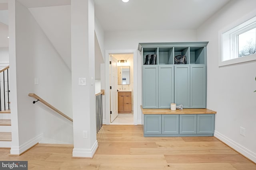
[[[214,114],[198,114],[197,115],[197,133],[213,134],[214,133]]]

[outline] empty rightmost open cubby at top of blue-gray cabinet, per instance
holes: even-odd
[[[205,64],[204,47],[190,47],[190,64]]]

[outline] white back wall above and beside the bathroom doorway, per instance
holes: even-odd
[[[155,30],[155,31],[114,31],[105,32],[105,49],[123,51],[127,49],[137,50],[138,43],[157,43],[157,42],[190,42],[196,41],[196,30]],[[121,52],[120,52],[121,53]],[[137,57],[134,60],[137,63],[137,80],[134,84],[138,85],[138,93],[134,92],[134,101],[138,101],[138,124],[141,124],[141,109],[142,105],[142,58],[137,52]],[[108,61],[105,61],[108,62]],[[135,82],[136,81],[136,82]],[[135,85],[134,85],[135,86]],[[105,89],[106,90],[106,89]],[[109,99],[106,98],[106,104]],[[106,117],[106,115],[104,115]]]

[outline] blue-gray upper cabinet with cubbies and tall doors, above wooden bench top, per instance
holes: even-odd
[[[142,56],[142,107],[206,108],[206,47],[208,42],[140,43]],[[156,54],[155,64],[146,62]],[[175,64],[175,56],[186,56]]]

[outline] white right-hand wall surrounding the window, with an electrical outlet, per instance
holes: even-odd
[[[209,41],[207,107],[217,111],[214,136],[254,162],[256,62],[218,67],[218,31],[255,11],[255,6],[255,0],[232,0],[197,30],[198,41]],[[246,128],[245,137],[240,135],[240,127]]]

